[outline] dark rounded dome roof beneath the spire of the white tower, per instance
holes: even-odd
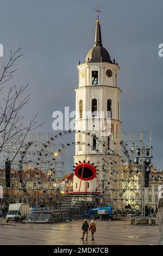
[[[85,61],[89,62],[111,62],[109,52],[103,46],[94,46],[87,52]]]

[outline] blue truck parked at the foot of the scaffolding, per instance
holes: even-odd
[[[112,206],[105,206],[99,208],[93,208],[86,212],[86,218],[92,218],[93,220],[112,220],[113,211]]]

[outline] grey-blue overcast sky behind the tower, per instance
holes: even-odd
[[[93,46],[97,5],[103,46],[121,67],[121,120],[123,131],[152,131],[154,165],[162,164],[162,0],[0,0],[0,43],[4,57],[22,46],[14,83],[30,83],[28,120],[35,113],[52,130],[52,113],[64,106],[74,110],[78,87],[76,65]],[[71,153],[73,150],[71,150]]]

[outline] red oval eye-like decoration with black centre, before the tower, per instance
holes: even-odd
[[[96,168],[90,163],[79,163],[74,172],[80,180],[93,180],[96,177]]]

